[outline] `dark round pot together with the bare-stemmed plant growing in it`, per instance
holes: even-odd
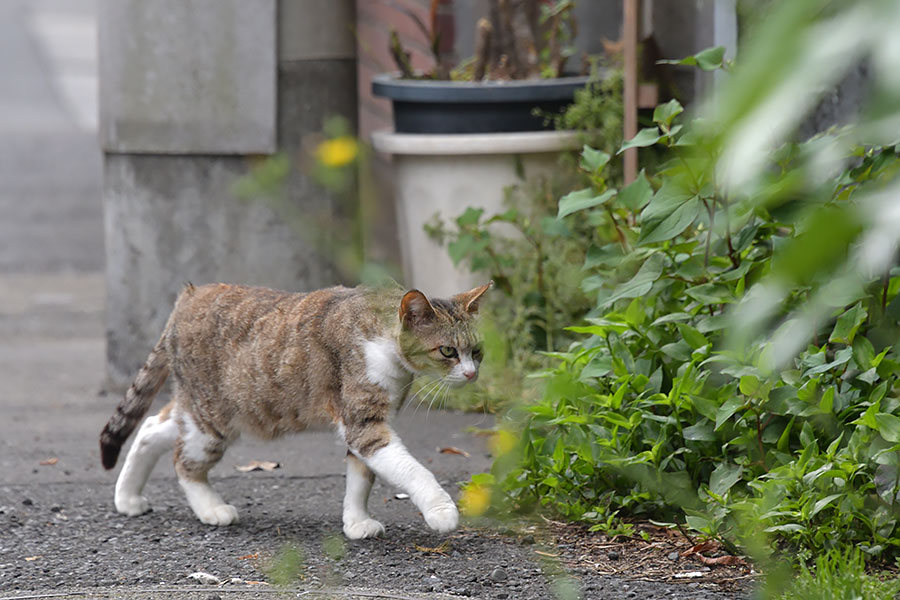
[[[419,26],[431,41],[433,69],[416,73],[398,36],[391,54],[399,72],[375,77],[372,90],[389,98],[397,133],[494,133],[539,131],[544,115],[572,103],[587,81],[588,61],[580,75],[568,74],[576,24],[573,0],[488,0],[487,16],[476,27],[474,56],[455,67],[438,51],[435,26]]]

